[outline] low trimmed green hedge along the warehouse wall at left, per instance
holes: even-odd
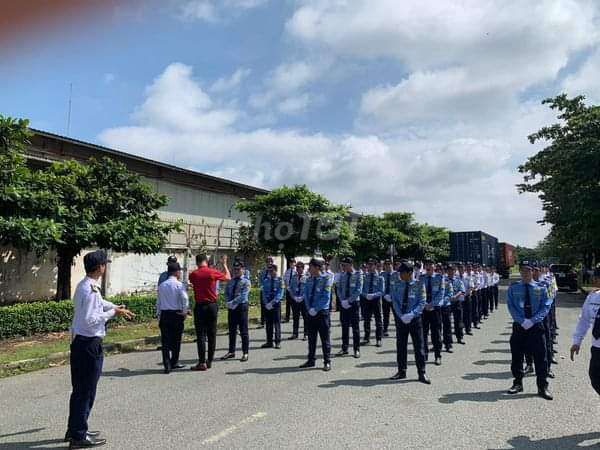
[[[193,301],[193,294],[190,299]],[[115,304],[125,304],[135,315],[135,322],[149,322],[156,317],[154,294],[128,295],[111,297]],[[223,294],[219,303],[224,305]],[[259,303],[258,289],[250,292],[250,303]],[[73,302],[71,300],[39,301],[20,303],[0,307],[0,339],[15,336],[31,336],[39,333],[67,331],[73,320]],[[116,323],[124,323],[125,319],[116,318]]]

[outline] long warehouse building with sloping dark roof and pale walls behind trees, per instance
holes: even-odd
[[[212,253],[233,253],[239,226],[248,217],[234,208],[241,198],[252,198],[268,191],[234,181],[152,161],[118,150],[33,130],[27,158],[32,166],[43,167],[53,161],[110,157],[142,175],[156,191],[170,201],[159,211],[165,222],[181,220],[182,232],[174,232],[161,253],[137,255],[112,253],[105,277],[106,295],[153,289],[158,274],[165,270],[169,254],[182,262],[187,255],[205,248]],[[55,254],[42,258],[12,248],[0,248],[0,304],[52,298],[56,285]],[[193,266],[190,260],[189,265]],[[73,288],[84,274],[80,256],[73,268]]]

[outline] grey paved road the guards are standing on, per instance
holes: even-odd
[[[597,447],[600,402],[587,379],[589,349],[574,363],[567,354],[581,301],[560,294],[553,402],[535,396],[534,378],[525,380],[522,395],[505,394],[510,324],[502,306],[466,346],[444,355],[443,366],[428,367],[431,386],[415,382],[411,355],[409,379],[388,381],[395,372],[393,338],[383,348],[364,348],[360,360],[334,360],[329,373],[297,369],[306,354],[302,341],[256,349],[263,330],[251,332],[248,363],[217,362],[206,373],[163,375],[156,351],[111,356],[92,429],[104,431],[111,449]],[[339,335],[336,326],[334,350]],[[219,355],[225,345],[220,337]],[[185,345],[184,362],[193,363],[194,355],[194,345]],[[68,373],[60,367],[0,380],[0,448],[64,445]]]

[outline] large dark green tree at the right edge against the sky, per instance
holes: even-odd
[[[555,245],[570,248],[591,265],[600,256],[600,106],[565,94],[543,101],[559,123],[529,136],[547,146],[519,167],[520,192],[538,194]]]

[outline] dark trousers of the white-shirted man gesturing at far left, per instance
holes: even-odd
[[[88,418],[94,406],[96,387],[102,373],[102,339],[75,336],[71,343],[71,398],[67,429],[73,439],[84,439]]]

